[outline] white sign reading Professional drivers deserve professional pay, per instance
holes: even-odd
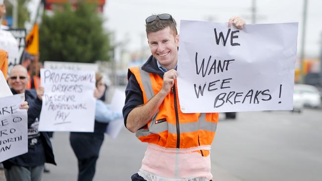
[[[95,73],[41,69],[39,131],[94,132]]]

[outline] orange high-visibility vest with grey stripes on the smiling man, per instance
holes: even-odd
[[[162,78],[145,72],[141,67],[130,68],[143,92],[147,103],[162,88]],[[175,81],[176,85],[176,81]],[[174,88],[174,89],[173,89]],[[157,144],[166,148],[191,148],[211,145],[215,136],[218,113],[182,113],[178,90],[174,86],[164,98],[159,111],[148,124],[136,132],[142,142]],[[208,152],[201,154],[208,155]]]

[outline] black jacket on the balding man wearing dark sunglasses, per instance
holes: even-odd
[[[12,90],[13,94],[17,94],[16,91]],[[27,111],[28,115],[28,152],[13,158],[10,158],[3,162],[3,166],[9,169],[12,165],[34,167],[43,165],[46,163],[52,163],[56,165],[54,160],[54,153],[52,148],[52,143],[49,139],[47,132],[39,132],[34,130],[37,134],[29,136],[30,130],[33,130],[35,124],[38,124],[39,116],[42,108],[42,100],[37,97],[35,90],[25,91],[25,100],[28,102],[29,109]],[[37,138],[36,138],[37,137]],[[36,144],[33,144],[34,140],[38,139]]]

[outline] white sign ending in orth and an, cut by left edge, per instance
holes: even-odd
[[[0,98],[0,162],[28,152],[27,110],[19,109],[22,97]]]

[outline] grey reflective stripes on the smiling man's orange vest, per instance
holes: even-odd
[[[150,75],[149,73],[142,70],[141,67],[139,67],[139,72],[140,72],[141,81],[143,84],[143,89],[146,92],[146,96],[148,100],[150,100],[154,96]],[[171,134],[177,133],[176,126],[172,125],[171,123],[162,122],[162,123],[155,124],[158,113],[159,111],[153,116],[152,123],[149,126],[149,130],[146,130],[146,129],[138,130],[136,132],[137,137],[148,136],[150,134],[159,134],[164,131],[168,131],[168,133],[171,133]],[[206,113],[202,113],[199,117],[198,122],[180,123],[180,133],[196,132],[198,130],[215,132],[216,127],[217,127],[217,124],[206,121]]]

